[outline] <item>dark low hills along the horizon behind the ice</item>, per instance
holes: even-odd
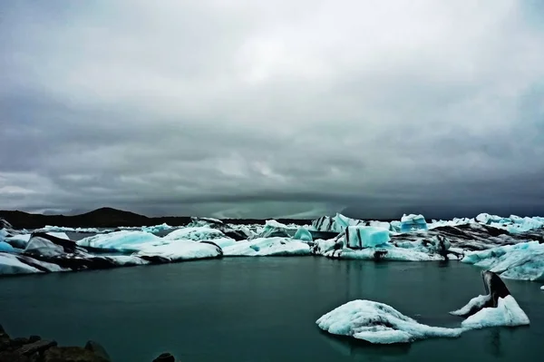
[[[149,218],[131,211],[101,208],[79,215],[44,215],[18,210],[0,210],[0,218],[7,220],[15,229],[40,229],[46,225],[64,226],[69,228],[116,228],[141,227],[167,223],[170,226],[183,226],[190,222],[189,216],[167,216]],[[265,220],[258,219],[223,219],[235,224],[257,223]],[[278,219],[283,223],[306,224],[311,220]]]

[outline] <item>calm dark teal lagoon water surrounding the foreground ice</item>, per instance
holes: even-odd
[[[432,326],[484,293],[480,270],[451,261],[325,258],[212,259],[0,279],[0,323],[13,337],[61,345],[99,341],[113,361],[537,361],[544,357],[544,292],[505,280],[531,325],[461,338],[371,346],[335,338],[316,319],[356,298],[381,301]]]

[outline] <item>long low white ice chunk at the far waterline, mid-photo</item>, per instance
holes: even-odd
[[[290,238],[258,238],[238,241],[235,245],[224,248],[223,254],[239,257],[309,255],[310,247],[306,242]]]

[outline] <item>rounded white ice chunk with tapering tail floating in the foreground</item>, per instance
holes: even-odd
[[[371,300],[353,300],[317,319],[319,328],[335,335],[376,344],[408,343],[417,339],[461,335],[461,328],[430,327],[398,310]]]

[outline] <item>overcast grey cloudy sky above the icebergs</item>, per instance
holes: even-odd
[[[544,215],[539,0],[0,2],[0,209]]]

